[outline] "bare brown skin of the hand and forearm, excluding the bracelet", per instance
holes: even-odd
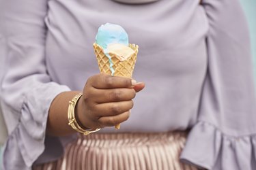
[[[106,74],[91,76],[76,103],[76,120],[84,129],[115,126],[128,120],[136,93],[145,87],[130,78]],[[61,92],[49,109],[46,134],[63,136],[76,133],[68,125],[68,102],[80,91]]]

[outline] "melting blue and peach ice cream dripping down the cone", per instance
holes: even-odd
[[[128,47],[128,34],[118,24],[102,24],[96,35],[96,44],[103,48],[104,54],[109,58],[111,75],[114,75],[115,70],[109,52],[118,53],[124,59],[134,52]]]

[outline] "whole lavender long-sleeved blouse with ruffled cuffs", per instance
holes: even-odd
[[[238,0],[1,0],[0,8],[4,169],[55,160],[73,139],[46,136],[48,108],[99,72],[92,44],[106,22],[122,25],[139,45],[134,79],[146,84],[119,132],[191,129],[182,160],[256,169],[252,57]]]

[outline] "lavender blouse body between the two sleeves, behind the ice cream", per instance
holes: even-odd
[[[49,1],[46,65],[53,81],[82,90],[87,78],[99,73],[92,44],[106,22],[124,27],[130,43],[139,45],[133,78],[146,84],[121,131],[173,131],[195,124],[208,31],[198,1]]]

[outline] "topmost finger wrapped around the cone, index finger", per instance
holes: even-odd
[[[106,75],[104,73],[94,75],[87,81],[94,88],[109,89],[109,88],[132,88],[136,84],[135,80],[119,76]]]

